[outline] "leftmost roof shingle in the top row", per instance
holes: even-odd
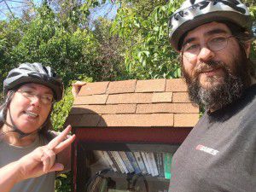
[[[104,94],[108,88],[109,81],[85,84],[79,91],[79,96]]]

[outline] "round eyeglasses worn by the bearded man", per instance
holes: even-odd
[[[219,51],[222,49],[225,49],[228,41],[230,38],[233,38],[234,36],[226,37],[224,35],[217,35],[213,36],[212,38],[209,38],[207,41],[207,48],[211,49],[212,51]],[[190,58],[195,55],[199,55],[201,51],[201,44],[198,42],[191,42],[188,44],[184,44],[182,47],[183,55],[187,58]]]

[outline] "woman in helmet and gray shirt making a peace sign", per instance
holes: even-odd
[[[0,108],[1,191],[55,191],[55,172],[70,163],[70,126],[50,140],[50,113],[61,100],[63,84],[50,67],[23,63],[3,82]],[[65,150],[63,150],[66,148]],[[67,168],[67,167],[66,167]]]

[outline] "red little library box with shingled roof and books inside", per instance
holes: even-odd
[[[166,192],[172,155],[199,119],[183,79],[85,84],[73,126],[73,192]]]

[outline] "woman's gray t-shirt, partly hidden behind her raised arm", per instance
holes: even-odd
[[[6,166],[10,162],[19,160],[22,156],[29,154],[35,148],[47,143],[43,137],[38,137],[34,143],[26,147],[16,147],[8,143],[0,142],[0,167]],[[29,178],[15,184],[11,192],[54,192],[55,172],[47,173],[40,177]]]

